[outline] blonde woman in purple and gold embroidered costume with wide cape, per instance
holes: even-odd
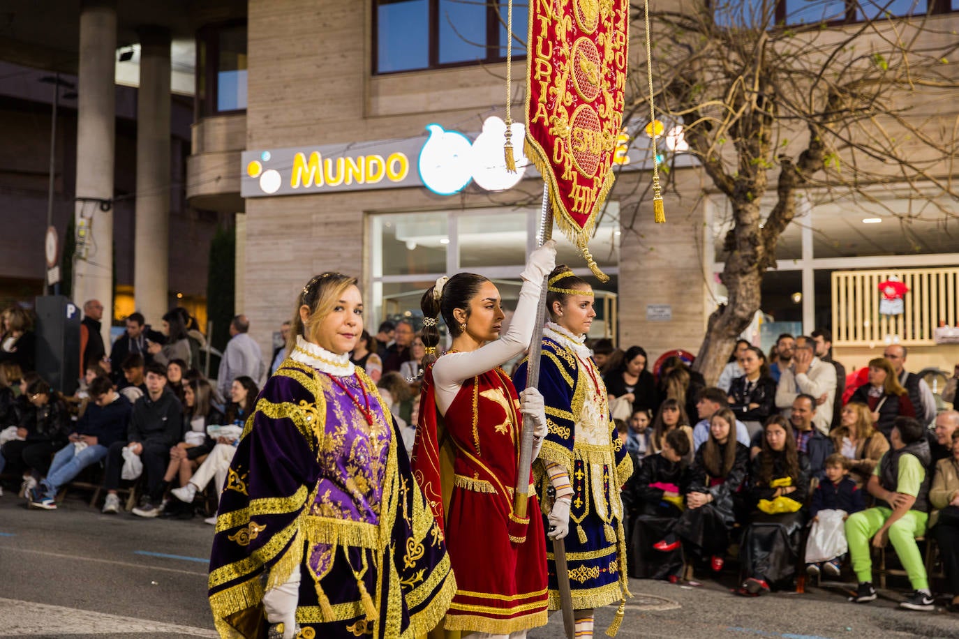
[[[456,590],[376,384],[349,362],[356,280],[313,278],[230,464],[210,560],[222,637],[425,634]]]

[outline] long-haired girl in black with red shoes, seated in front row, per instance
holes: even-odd
[[[690,467],[686,511],[672,534],[653,545],[656,550],[669,552],[681,541],[688,557],[709,558],[713,572],[722,570],[725,562],[738,510],[735,495],[749,468],[748,449],[731,434],[730,424],[735,421],[728,408],[713,414],[709,439],[696,451]]]

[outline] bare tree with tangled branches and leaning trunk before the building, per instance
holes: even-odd
[[[959,14],[897,18],[887,13],[892,4],[695,0],[650,12],[658,117],[683,125],[689,152],[732,214],[720,276],[729,301],[711,315],[695,362],[708,380],[760,308],[762,274],[776,265],[798,196],[881,205],[883,189],[957,195]],[[632,11],[635,47],[643,3]],[[627,117],[649,112],[645,79],[644,64],[631,70]],[[774,202],[767,216],[762,201]]]

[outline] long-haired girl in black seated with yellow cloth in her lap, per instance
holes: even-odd
[[[740,595],[755,597],[784,586],[796,572],[809,463],[796,449],[792,430],[783,417],[771,417],[763,428],[762,450],[753,459],[749,496],[758,511],[750,515],[739,549],[742,574],[747,576],[737,589]]]

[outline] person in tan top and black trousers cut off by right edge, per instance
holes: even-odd
[[[929,491],[932,514],[929,515],[929,533],[939,544],[943,559],[948,592],[952,601],[950,612],[959,612],[959,430],[950,436],[952,454],[939,460]]]

